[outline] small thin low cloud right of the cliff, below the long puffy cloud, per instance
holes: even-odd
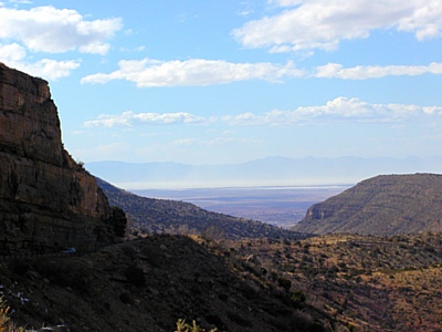
[[[197,116],[190,113],[177,112],[177,113],[134,113],[124,112],[118,115],[106,115],[102,114],[96,120],[86,121],[85,127],[94,126],[131,126],[136,124],[148,124],[148,125],[168,125],[168,124],[200,124],[209,122],[209,118]]]

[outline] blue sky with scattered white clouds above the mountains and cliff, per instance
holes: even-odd
[[[431,157],[441,0],[0,0],[77,160]]]

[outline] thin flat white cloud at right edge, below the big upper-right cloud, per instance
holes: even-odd
[[[345,69],[338,63],[328,63],[316,68],[316,77],[335,77],[344,80],[367,80],[385,76],[442,74],[442,63],[429,65],[358,65]]]

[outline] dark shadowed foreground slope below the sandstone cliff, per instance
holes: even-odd
[[[240,278],[221,251],[182,236],[151,236],[82,257],[12,260],[0,273],[13,321],[28,328],[172,332],[186,319],[229,332],[320,332],[318,321],[327,319],[276,286]]]

